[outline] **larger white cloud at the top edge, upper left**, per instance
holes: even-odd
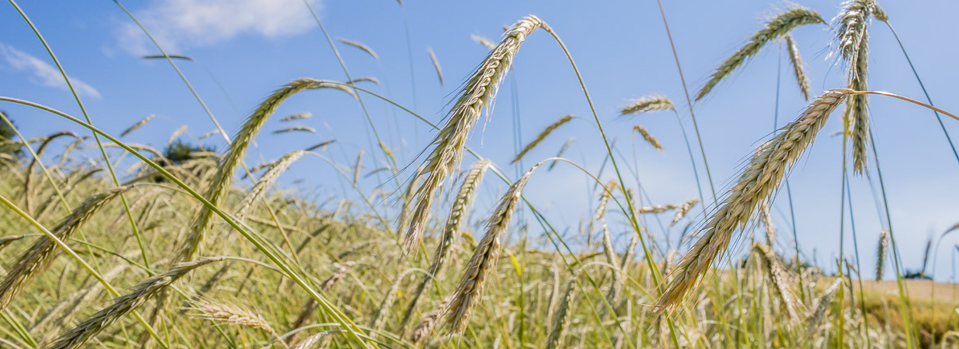
[[[318,11],[317,0],[308,0]],[[164,50],[209,46],[240,34],[279,37],[304,33],[316,26],[301,0],[155,0],[137,19]],[[136,24],[126,23],[121,47],[133,55],[156,54],[150,38]]]

